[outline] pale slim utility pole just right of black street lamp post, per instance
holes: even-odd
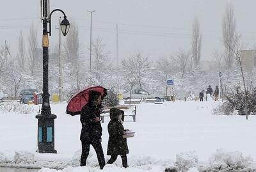
[[[60,102],[63,102],[63,74],[62,74],[62,61],[61,61],[61,17],[59,19],[59,52],[58,52],[58,58],[59,58],[59,98]]]

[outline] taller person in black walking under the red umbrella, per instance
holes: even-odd
[[[80,140],[82,142],[81,166],[86,166],[86,159],[90,152],[90,145],[97,154],[100,169],[105,166],[105,158],[101,145],[102,127],[100,124],[100,109],[102,108],[102,97],[97,91],[90,91],[89,101],[82,108],[80,121],[82,130]]]

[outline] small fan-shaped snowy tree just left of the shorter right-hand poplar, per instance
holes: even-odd
[[[181,79],[184,77],[186,73],[186,68],[188,68],[188,62],[190,57],[190,52],[186,51],[178,51],[176,55],[173,58],[173,61],[175,61],[176,65],[179,68],[179,72],[181,73]]]

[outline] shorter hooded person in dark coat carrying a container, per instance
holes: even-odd
[[[122,111],[115,107],[111,108],[109,111],[110,121],[108,123],[108,151],[107,155],[111,155],[107,164],[113,164],[120,155],[122,159],[122,164],[124,168],[128,167],[127,156],[129,153],[127,140],[124,138],[124,127],[122,125]]]

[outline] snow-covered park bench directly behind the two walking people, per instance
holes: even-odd
[[[109,113],[109,110],[110,110],[112,107],[115,107],[115,108],[120,109],[120,110],[127,110],[127,109],[129,109],[129,108],[134,108],[134,110],[132,110],[132,114],[125,114],[125,113],[124,113],[124,116],[132,116],[133,121],[134,121],[134,122],[136,121],[136,109],[137,109],[137,106],[136,106],[136,105],[104,106],[104,109],[103,109],[102,113],[100,114],[100,118],[101,118],[101,122],[102,122],[102,123],[104,123],[104,117],[109,116],[109,114],[106,114],[106,113]]]

